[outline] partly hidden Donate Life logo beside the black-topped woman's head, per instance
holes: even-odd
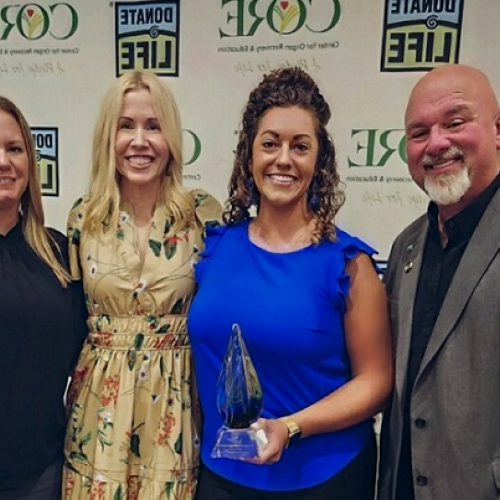
[[[43,196],[59,196],[59,148],[58,129],[32,127],[36,161]]]

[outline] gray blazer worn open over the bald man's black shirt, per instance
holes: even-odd
[[[385,277],[396,361],[382,424],[379,500],[396,500],[413,303],[427,227],[423,216],[398,236]],[[415,498],[499,500],[500,190],[465,250],[410,397]]]

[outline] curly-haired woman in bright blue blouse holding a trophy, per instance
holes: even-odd
[[[246,106],[226,226],[209,233],[189,314],[204,417],[197,500],[372,500],[372,417],[392,380],[374,250],[340,230],[330,109],[304,71],[265,76]],[[250,216],[250,209],[256,216]],[[238,323],[264,394],[252,461],[211,458],[216,382]]]

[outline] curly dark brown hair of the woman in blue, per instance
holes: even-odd
[[[258,212],[260,194],[254,187],[250,164],[259,122],[271,108],[292,106],[309,111],[315,122],[319,149],[307,199],[316,221],[311,241],[317,245],[321,240],[335,239],[334,219],[345,197],[337,172],[335,146],[326,129],[330,107],[311,76],[300,68],[274,70],[264,75],[250,93],[243,112],[223,219],[232,225],[249,219],[252,207]]]

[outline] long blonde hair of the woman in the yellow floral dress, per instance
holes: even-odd
[[[118,78],[104,97],[94,128],[92,177],[83,228],[102,232],[103,223],[114,228],[120,208],[120,174],[116,169],[115,137],[125,94],[145,89],[170,149],[170,160],[160,186],[159,199],[173,219],[174,231],[192,219],[194,202],[182,187],[182,128],[179,110],[170,90],[147,71],[132,71]]]

